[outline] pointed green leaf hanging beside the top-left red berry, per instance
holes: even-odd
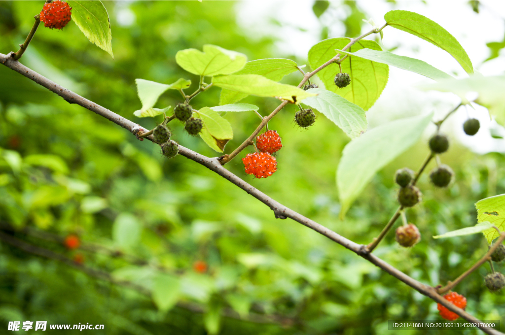
[[[112,32],[109,14],[101,1],[69,0],[72,20],[91,43],[107,51],[112,58]]]

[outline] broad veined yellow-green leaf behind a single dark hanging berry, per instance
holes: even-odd
[[[317,69],[337,54],[335,49],[343,49],[350,39],[347,37],[329,38],[314,45],[309,50],[309,64],[312,69]],[[348,51],[355,52],[369,48],[381,50],[374,41],[360,40],[353,44]],[[379,98],[386,87],[389,67],[386,64],[372,62],[363,58],[345,60],[341,64],[342,72],[350,75],[350,84],[345,88],[338,88],[335,83],[335,74],[340,72],[336,63],[328,65],[319,71],[317,76],[324,83],[327,90],[346,98],[364,110],[368,110]]]

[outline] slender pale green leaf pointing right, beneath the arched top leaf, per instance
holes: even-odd
[[[335,51],[343,54],[348,54],[349,56],[356,56],[357,58],[359,57],[369,61],[391,65],[402,70],[415,72],[433,80],[452,78],[445,72],[432,67],[426,62],[417,60],[415,58],[399,56],[389,51],[372,50],[368,48],[361,49],[356,52],[342,51],[339,49],[335,49]]]

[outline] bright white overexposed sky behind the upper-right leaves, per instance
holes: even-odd
[[[473,12],[468,1],[398,1],[393,5],[384,1],[364,0],[357,3],[378,27],[385,23],[384,14],[393,9],[424,15],[458,39],[475,70],[485,76],[501,75],[505,71],[503,52],[500,57],[483,63],[489,57],[486,43],[502,41],[505,35],[505,1],[481,1],[479,14]],[[312,12],[313,4],[310,0],[241,1],[237,4],[238,22],[250,32],[251,38],[264,35],[279,38],[279,54],[295,54],[306,59],[308,50],[320,39],[322,24],[329,27],[329,37],[343,36],[345,27],[339,19],[348,14],[347,7],[342,6],[342,2],[332,1],[320,22]],[[273,23],[272,19],[280,22],[281,27]],[[371,28],[366,24],[363,32]],[[467,77],[451,55],[433,44],[391,27],[386,27],[383,32],[386,49],[398,47],[394,53],[423,60],[459,78]],[[423,92],[416,88],[420,83],[430,82],[432,80],[424,76],[390,67],[386,88],[376,104],[367,111],[369,127],[377,126],[386,119],[414,116],[432,110],[435,111],[435,119],[442,118],[460,100],[451,93]],[[487,109],[479,106],[476,106],[476,110],[468,108],[468,112],[466,109],[461,107],[451,116],[444,123],[442,131],[458,138],[475,152],[505,152],[505,140],[490,136],[489,128],[498,126],[489,120]],[[462,125],[468,115],[479,119],[481,123],[480,131],[473,137],[463,132]],[[501,130],[505,133],[505,129]],[[427,134],[432,132],[433,129],[427,130]]]

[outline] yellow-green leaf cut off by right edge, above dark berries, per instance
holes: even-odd
[[[500,232],[505,231],[505,194],[479,200],[475,203],[475,208],[477,208],[477,222],[487,221],[498,228]],[[491,243],[499,236],[494,228],[482,233],[487,239],[487,243]]]

